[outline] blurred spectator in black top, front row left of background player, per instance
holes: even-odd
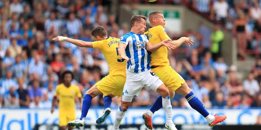
[[[17,92],[19,94],[20,107],[29,107],[30,99],[28,91],[24,88],[24,79],[21,77],[18,78],[18,86]]]

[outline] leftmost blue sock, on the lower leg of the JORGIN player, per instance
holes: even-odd
[[[81,109],[81,118],[85,118],[89,109],[90,109],[90,106],[91,106],[91,103],[92,103],[92,99],[93,97],[90,96],[89,94],[85,94],[84,95],[84,101],[82,101],[82,109]]]

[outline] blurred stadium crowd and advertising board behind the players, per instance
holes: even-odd
[[[155,10],[163,12],[171,39],[186,36],[194,41],[191,47],[184,44],[168,51],[168,59],[204,106],[228,116],[222,125],[261,125],[261,0],[1,0],[0,130],[31,130],[36,124],[40,125],[34,129],[57,128],[43,124],[58,124],[58,109],[51,114],[50,107],[60,74],[73,71],[73,84],[82,94],[108,74],[99,50],[52,38],[92,42],[90,32],[97,25],[108,36],[120,38],[130,31],[133,14],[148,16]],[[143,88],[122,123],[145,130],[139,125],[141,115],[158,96]],[[108,127],[100,129],[111,129],[120,102],[113,98]],[[182,95],[176,93],[171,103],[179,129],[212,129]],[[94,124],[102,111],[100,95],[92,100],[86,119],[91,126],[86,128],[98,129]],[[155,113],[158,129],[163,128],[164,116],[163,110]]]

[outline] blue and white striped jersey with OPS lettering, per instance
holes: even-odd
[[[151,55],[146,50],[146,43],[149,42],[148,37],[144,34],[135,34],[129,32],[124,34],[119,43],[127,45],[125,52],[131,59],[127,62],[127,70],[135,73],[147,71],[151,69]]]

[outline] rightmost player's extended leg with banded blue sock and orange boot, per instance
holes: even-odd
[[[202,116],[204,116],[204,118],[206,118],[209,126],[214,126],[215,124],[220,123],[226,119],[226,116],[213,116],[209,114],[202,102],[194,95],[194,93],[186,83],[183,83],[182,86],[176,90],[176,92],[185,96],[185,98],[189,102],[189,105],[197,112],[199,112]]]

